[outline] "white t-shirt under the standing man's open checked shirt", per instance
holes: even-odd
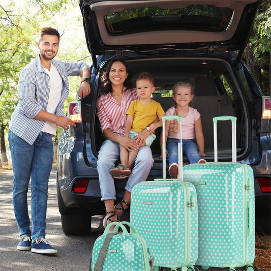
[[[50,76],[50,94],[48,98],[47,112],[54,114],[56,106],[61,98],[62,90],[62,78],[59,75],[57,69],[51,64],[50,71],[44,68],[45,73]],[[46,122],[42,128],[42,132],[46,132],[55,136],[56,134],[56,123]]]

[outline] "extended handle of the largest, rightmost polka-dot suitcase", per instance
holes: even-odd
[[[217,142],[217,122],[218,121],[231,121],[232,162],[236,163],[237,150],[236,150],[236,117],[235,116],[217,116],[213,118],[215,162],[218,162],[218,142]]]

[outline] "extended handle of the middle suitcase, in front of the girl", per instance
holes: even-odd
[[[163,150],[163,179],[166,178],[166,133],[165,133],[165,122],[166,121],[172,121],[173,119],[177,119],[179,122],[179,138],[180,142],[178,142],[178,166],[179,166],[179,177],[180,180],[183,181],[183,143],[182,143],[182,117],[181,116],[163,116],[162,122],[163,122],[163,144],[162,144],[162,150]]]

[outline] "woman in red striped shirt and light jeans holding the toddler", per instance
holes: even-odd
[[[119,221],[119,217],[130,205],[133,187],[146,180],[154,163],[152,151],[145,146],[145,139],[149,135],[148,130],[145,129],[134,139],[124,137],[126,111],[130,103],[138,99],[136,90],[131,88],[130,77],[127,64],[116,58],[109,62],[101,77],[105,94],[98,99],[97,115],[106,140],[99,151],[97,170],[102,200],[106,207],[104,227],[111,222]],[[116,195],[110,169],[119,158],[119,145],[128,150],[139,149],[139,151],[125,187],[124,197],[114,206]]]

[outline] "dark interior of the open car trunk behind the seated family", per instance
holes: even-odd
[[[179,81],[188,81],[194,86],[192,107],[201,114],[202,128],[205,141],[207,161],[214,161],[214,132],[213,117],[231,115],[237,117],[237,160],[242,160],[250,149],[249,135],[252,134],[248,120],[248,112],[242,95],[243,86],[237,85],[233,76],[235,67],[231,67],[227,58],[215,57],[153,57],[153,58],[126,58],[129,68],[133,72],[133,83],[140,72],[148,71],[155,78],[156,91],[153,99],[161,103],[164,111],[174,105],[172,87]],[[102,69],[101,69],[102,71]],[[100,72],[101,72],[100,71]],[[102,95],[101,93],[99,95]],[[98,98],[98,97],[97,97]],[[99,119],[95,118],[95,142],[92,149],[96,155],[104,141],[100,129]],[[151,148],[155,160],[154,168],[162,167],[160,159],[160,132],[155,132],[157,138]],[[218,123],[219,160],[229,161],[231,158],[231,124]],[[188,159],[184,157],[184,162]]]

